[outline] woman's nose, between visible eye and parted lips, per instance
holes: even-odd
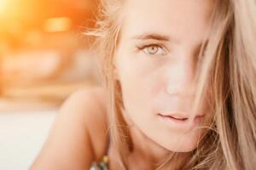
[[[171,95],[194,95],[195,66],[192,57],[179,57],[167,67],[166,91]]]

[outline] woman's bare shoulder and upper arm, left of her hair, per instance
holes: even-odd
[[[72,94],[55,117],[43,149],[31,169],[89,169],[104,154],[108,138],[104,88]]]

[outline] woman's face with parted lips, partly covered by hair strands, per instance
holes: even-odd
[[[116,71],[125,114],[167,150],[194,150],[210,111],[192,114],[195,63],[210,0],[126,0]]]

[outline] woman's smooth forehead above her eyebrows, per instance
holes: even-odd
[[[201,41],[209,26],[213,0],[126,0],[123,37],[145,32],[179,42]]]

